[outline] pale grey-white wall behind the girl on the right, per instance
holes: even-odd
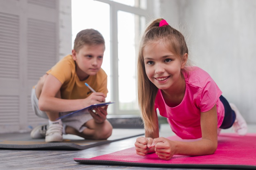
[[[183,26],[195,65],[256,123],[256,1],[160,0],[160,7],[160,17]]]

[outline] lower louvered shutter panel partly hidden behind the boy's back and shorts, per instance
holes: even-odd
[[[38,124],[46,124],[48,123],[47,119],[38,117],[34,110],[32,109],[31,99],[30,96],[27,96],[27,122],[30,126],[34,127]]]

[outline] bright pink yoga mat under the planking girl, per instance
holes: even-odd
[[[177,136],[168,137],[168,139],[182,140]],[[218,148],[213,155],[174,155],[166,161],[159,159],[155,153],[145,157],[139,156],[133,147],[90,159],[74,158],[74,161],[121,166],[256,169],[256,134],[238,136],[234,133],[222,133],[218,137]]]

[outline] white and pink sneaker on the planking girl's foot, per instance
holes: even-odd
[[[245,119],[240,114],[235,104],[229,103],[229,105],[231,106],[231,109],[234,110],[234,112],[236,113],[236,120],[232,127],[234,128],[235,132],[238,133],[238,135],[246,135],[248,128]]]

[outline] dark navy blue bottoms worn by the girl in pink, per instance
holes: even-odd
[[[220,128],[227,129],[234,124],[234,121],[236,120],[236,114],[234,110],[231,109],[227,99],[225,99],[222,95],[220,96],[220,101],[224,105],[224,109],[225,109],[224,119]]]

